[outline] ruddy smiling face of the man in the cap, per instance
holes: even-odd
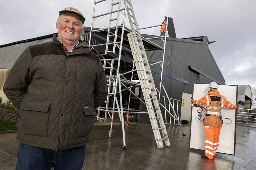
[[[83,23],[78,15],[63,13],[56,22],[56,29],[59,30],[59,38],[62,42],[77,43],[79,36],[83,33]]]

